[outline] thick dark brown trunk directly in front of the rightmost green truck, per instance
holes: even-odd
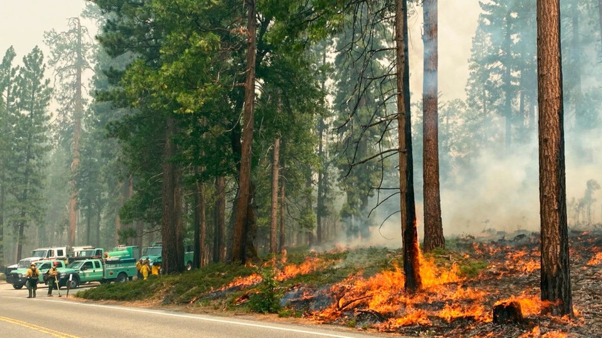
[[[163,241],[163,254],[161,271],[164,274],[181,272],[184,269],[184,250],[181,242],[181,198],[179,194],[179,168],[172,161],[176,153],[176,146],[172,136],[175,134],[175,118],[166,119],[165,146],[163,152],[163,189],[161,192],[163,216],[161,218],[161,239]]]

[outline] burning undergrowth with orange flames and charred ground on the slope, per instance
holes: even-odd
[[[414,295],[404,291],[400,250],[343,250],[329,259],[314,254],[298,264],[284,257],[258,268],[272,269],[281,309],[319,323],[407,336],[592,337],[602,336],[600,235],[571,232],[574,318],[539,314],[537,233],[461,238],[449,245],[453,251],[421,257],[423,289]],[[382,256],[379,263],[371,260],[376,253]],[[350,265],[355,269],[346,270]],[[317,276],[322,279],[316,281]],[[238,290],[238,306],[261,293],[262,283],[265,278],[252,274],[214,292]],[[519,307],[520,322],[496,324],[492,309],[509,303]]]

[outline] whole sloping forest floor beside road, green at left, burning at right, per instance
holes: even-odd
[[[182,312],[343,325],[393,336],[602,337],[601,230],[569,230],[572,318],[539,313],[538,233],[470,236],[448,240],[447,246],[453,250],[423,257],[424,287],[414,295],[403,290],[402,251],[386,248],[290,254],[261,266],[236,270],[219,265],[76,295]],[[507,301],[520,304],[523,319],[495,324],[493,307]],[[270,312],[274,314],[265,314]]]

